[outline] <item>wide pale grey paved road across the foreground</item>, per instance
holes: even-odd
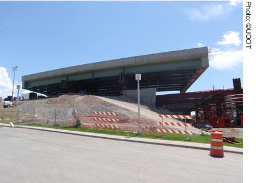
[[[0,182],[242,182],[243,155],[0,128]]]

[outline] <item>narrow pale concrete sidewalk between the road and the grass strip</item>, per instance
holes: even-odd
[[[1,124],[1,123],[0,123],[0,127],[10,127],[11,128],[11,126],[9,124]],[[117,135],[94,134],[94,133],[89,133],[89,132],[78,132],[78,131],[69,131],[69,130],[64,130],[64,129],[53,129],[53,128],[21,126],[21,125],[19,125],[19,126],[15,125],[14,128],[36,129],[36,130],[42,130],[42,131],[48,131],[48,132],[58,132],[58,133],[62,133],[62,134],[81,135],[81,136],[86,136],[86,137],[112,139],[112,140],[117,140],[117,141],[139,142],[139,143],[155,144],[155,145],[169,145],[169,146],[174,146],[174,147],[207,150],[210,152],[210,144],[201,144],[201,143],[194,143],[194,142],[185,142],[185,141],[181,142],[181,141],[167,141],[167,140],[161,140],[161,139],[123,137],[123,136],[117,136]],[[243,149],[224,146],[224,152],[243,154]]]

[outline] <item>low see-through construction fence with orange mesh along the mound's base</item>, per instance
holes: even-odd
[[[23,111],[19,113],[19,119],[22,119],[22,122],[19,122],[19,124],[75,127],[79,121],[81,127],[95,128],[97,130],[109,128],[113,129],[113,131],[138,131],[138,118],[124,118],[124,115],[119,114],[118,111],[88,111],[85,114],[80,114],[75,108],[34,108],[23,109]],[[182,119],[179,120],[182,123]],[[141,131],[159,132],[158,121],[159,117],[157,115],[155,116],[155,119],[141,118]],[[16,124],[16,122],[14,124]],[[171,129],[178,131],[184,131],[185,129],[185,127],[174,128],[166,124],[164,126],[167,130],[169,129],[169,132]],[[165,131],[161,132],[166,133]]]

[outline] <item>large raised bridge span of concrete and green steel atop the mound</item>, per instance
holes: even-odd
[[[127,94],[137,89],[135,74],[141,74],[140,89],[185,93],[208,67],[207,47],[184,49],[24,75],[22,88],[49,97],[81,91]]]

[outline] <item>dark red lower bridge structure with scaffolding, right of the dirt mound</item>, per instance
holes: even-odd
[[[157,95],[155,105],[171,112],[182,112],[183,115],[195,111],[197,124],[243,127],[244,102],[240,78],[233,79],[233,84],[234,89]],[[217,124],[218,120],[222,122]]]

